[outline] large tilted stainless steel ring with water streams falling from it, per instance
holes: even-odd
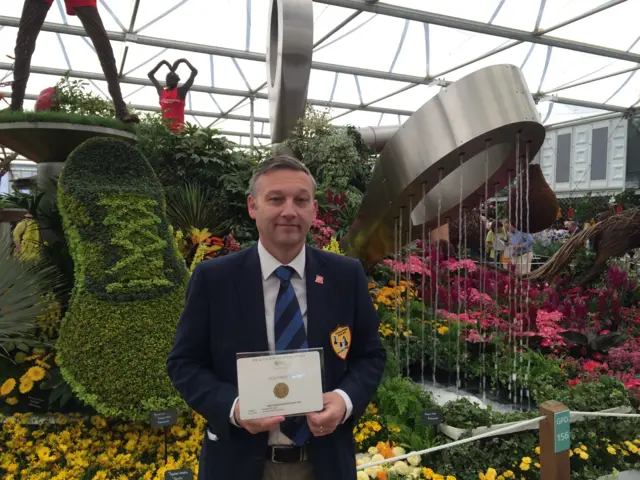
[[[424,104],[387,142],[342,247],[365,265],[383,259],[394,251],[401,212],[403,236],[410,219],[414,239],[423,223],[438,226],[438,212],[441,224],[457,218],[461,190],[463,207],[478,206],[485,183],[491,194],[506,186],[509,172],[514,178],[517,149],[524,156],[528,144],[531,160],[544,137],[517,67],[495,65],[469,74]]]

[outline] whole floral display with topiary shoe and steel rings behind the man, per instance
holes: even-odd
[[[24,14],[44,21],[48,5],[32,3]],[[0,197],[28,213],[0,243],[0,478],[197,478],[205,421],[165,362],[195,267],[257,241],[246,191],[274,152],[313,174],[307,243],[362,262],[380,320],[387,364],[353,421],[354,477],[541,478],[539,410],[553,402],[572,478],[640,469],[640,286],[626,255],[640,209],[594,220],[532,270],[523,245],[553,227],[558,202],[531,164],[545,129],[521,70],[477,69],[399,129],[338,127],[306,105],[311,5],[272,2],[268,148],[185,122],[198,74],[186,59],[149,72],[155,114],[123,109],[115,84],[114,110],[68,79],[45,110],[0,113],[0,144],[38,163],[32,191]],[[110,50],[97,51],[107,72]],[[179,63],[192,71],[180,86]],[[518,239],[506,259],[485,244],[498,223]]]

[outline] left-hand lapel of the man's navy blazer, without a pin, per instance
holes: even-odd
[[[269,350],[262,291],[262,270],[257,244],[249,247],[242,268],[236,270],[235,287],[238,300],[238,332],[246,335],[251,351]],[[231,319],[231,321],[234,321]]]

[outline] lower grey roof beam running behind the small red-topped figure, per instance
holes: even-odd
[[[13,64],[0,62],[0,70],[13,70]],[[52,68],[52,67],[38,67],[32,66],[31,73],[41,74],[41,75],[53,75],[57,77],[65,77],[68,76],[70,78],[80,78],[83,80],[99,80],[106,81],[104,75],[102,73],[95,72],[82,72],[78,70],[64,70],[62,68]],[[139,78],[139,77],[121,77],[121,84],[128,85],[143,85],[143,86],[151,86],[151,81],[147,78]],[[217,95],[228,95],[232,97],[251,97],[259,98],[262,100],[268,100],[269,97],[266,93],[262,92],[249,92],[244,90],[233,90],[229,88],[219,88],[219,87],[208,87],[205,85],[194,85],[191,87],[191,91],[193,92],[202,92],[202,93],[213,93]],[[328,100],[314,100],[307,99],[307,103],[310,105],[314,105],[317,107],[328,107],[328,108],[344,108],[347,110],[362,110],[365,112],[374,112],[374,113],[388,113],[390,115],[404,115],[411,116],[413,114],[412,110],[401,110],[397,108],[385,108],[385,107],[375,107],[375,106],[363,106],[357,105],[354,103],[342,103],[342,102],[330,102]]]

